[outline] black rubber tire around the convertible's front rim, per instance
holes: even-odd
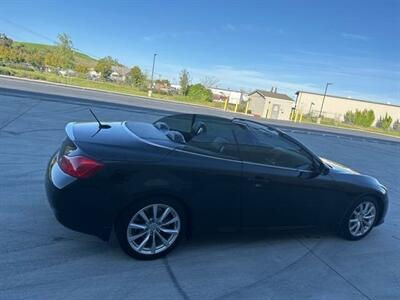
[[[365,231],[364,233],[362,233],[361,235],[354,235],[351,233],[350,231],[350,226],[349,226],[349,222],[350,222],[350,218],[354,212],[354,210],[361,204],[361,203],[365,203],[365,202],[369,202],[372,203],[375,207],[375,218],[374,221],[372,222],[372,225],[369,227],[369,229],[367,231]],[[362,238],[364,238],[365,236],[367,236],[372,228],[375,226],[376,221],[379,217],[379,206],[377,201],[372,198],[372,197],[363,197],[361,199],[359,199],[358,201],[354,202],[351,207],[349,207],[349,209],[347,210],[342,223],[340,224],[340,228],[339,228],[339,235],[346,239],[346,240],[350,240],[350,241],[358,241]]]

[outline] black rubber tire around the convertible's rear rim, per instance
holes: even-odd
[[[180,226],[179,226],[179,232],[174,241],[166,248],[165,250],[158,252],[158,253],[140,253],[136,251],[133,246],[131,246],[130,242],[128,241],[128,226],[130,224],[131,219],[142,209],[154,205],[154,204],[160,204],[161,206],[168,206],[173,208],[173,210],[177,213],[179,220],[180,220]],[[119,219],[116,222],[115,225],[115,233],[118,239],[118,242],[122,248],[122,250],[128,254],[129,256],[140,259],[140,260],[153,260],[157,259],[160,257],[163,257],[170,253],[181,241],[182,237],[185,236],[186,233],[186,227],[187,227],[187,221],[186,221],[186,213],[185,209],[182,207],[182,205],[174,200],[174,199],[169,199],[169,198],[151,198],[151,199],[146,199],[143,201],[139,201],[138,203],[133,204],[131,207],[126,209]],[[161,241],[161,240],[159,240]]]

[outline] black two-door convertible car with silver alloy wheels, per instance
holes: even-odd
[[[66,227],[140,259],[189,232],[323,226],[358,240],[381,224],[386,188],[319,158],[271,126],[176,114],[150,123],[69,123],[51,158],[47,195]]]

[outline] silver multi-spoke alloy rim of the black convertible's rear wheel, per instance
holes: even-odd
[[[131,218],[127,239],[136,252],[153,255],[167,250],[177,239],[180,228],[181,220],[174,208],[151,204]]]

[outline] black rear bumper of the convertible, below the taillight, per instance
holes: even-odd
[[[112,221],[105,208],[107,196],[100,188],[65,174],[54,157],[48,165],[45,185],[49,204],[62,225],[108,240]]]

